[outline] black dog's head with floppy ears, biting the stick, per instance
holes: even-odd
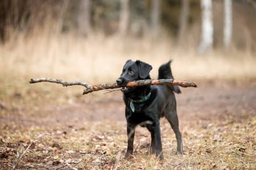
[[[150,79],[150,70],[152,66],[142,61],[131,61],[129,59],[123,66],[121,76],[117,79],[119,86],[125,87],[126,84],[133,80]]]

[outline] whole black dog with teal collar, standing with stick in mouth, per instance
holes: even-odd
[[[158,79],[173,79],[170,63],[171,61],[159,67]],[[180,88],[178,86],[125,87],[131,80],[151,79],[149,74],[151,69],[152,66],[142,61],[128,60],[123,66],[121,76],[117,79],[118,85],[123,87],[123,100],[126,105],[128,146],[125,158],[133,154],[135,127],[140,125],[151,133],[151,153],[163,159],[160,117],[166,117],[170,122],[177,139],[177,152],[183,154],[174,95],[174,92],[181,93]]]

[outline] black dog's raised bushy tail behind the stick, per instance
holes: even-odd
[[[167,63],[164,63],[162,66],[158,69],[158,79],[174,79],[174,76],[172,76],[172,70],[171,70],[171,64],[172,60],[168,61]],[[171,90],[176,92],[176,94],[180,94],[180,87],[179,86],[170,86]]]

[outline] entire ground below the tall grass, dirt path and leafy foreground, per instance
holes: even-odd
[[[160,122],[162,161],[148,154],[150,134],[141,127],[134,155],[123,158],[127,136],[119,91],[82,96],[82,90],[59,84],[10,91],[0,83],[0,169],[254,169],[256,84],[198,85],[176,95],[184,155],[175,155],[174,132],[164,118]]]

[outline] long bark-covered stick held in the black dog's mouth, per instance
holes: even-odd
[[[116,91],[116,90],[108,90],[113,88],[121,88],[117,83],[104,83],[93,86],[92,84],[86,82],[65,82],[61,79],[52,79],[52,78],[39,78],[39,79],[31,79],[30,83],[39,83],[39,82],[51,82],[51,83],[59,83],[63,86],[73,86],[73,85],[80,85],[84,86],[86,89],[82,93],[83,95],[89,94],[93,91],[98,90],[107,90],[109,92]],[[174,79],[159,79],[159,80],[137,80],[128,82],[126,87],[134,87],[134,86],[150,86],[150,85],[167,85],[167,86],[180,86],[180,87],[197,87],[196,82],[189,82],[189,81],[180,81]],[[120,89],[121,90],[121,89]]]

